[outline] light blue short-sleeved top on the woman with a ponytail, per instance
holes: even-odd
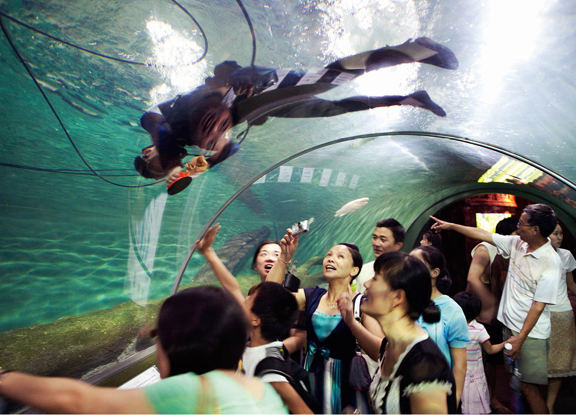
[[[440,309],[440,321],[426,323],[420,316],[418,324],[428,332],[452,368],[450,348],[466,348],[466,344],[470,341],[468,323],[460,305],[449,296],[439,296],[434,299],[434,304]]]

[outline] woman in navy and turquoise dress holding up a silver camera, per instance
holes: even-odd
[[[287,229],[281,243],[282,254],[266,281],[282,282],[286,267],[298,247],[298,237],[291,236],[291,229]],[[342,413],[346,406],[367,409],[366,395],[348,384],[350,361],[356,355],[357,342],[338,308],[339,297],[350,295],[350,282],[361,268],[362,255],[358,247],[340,243],[330,248],[322,263],[328,290],[316,286],[294,293],[298,307],[306,312],[308,351],[304,368],[314,374],[313,393],[320,400],[325,414]],[[362,316],[361,322],[358,324],[365,327],[363,338],[372,339],[370,344],[380,345],[384,334],[376,320]],[[369,354],[377,354],[377,347],[376,350],[368,349]]]

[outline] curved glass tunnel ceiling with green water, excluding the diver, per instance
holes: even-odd
[[[510,192],[556,198],[563,220],[574,216],[570,186],[510,154],[441,137],[378,135],[457,135],[521,154],[576,181],[573,2],[243,4],[255,29],[256,65],[304,71],[411,37],[445,44],[460,62],[455,71],[401,65],[365,74],[322,97],[425,89],[447,116],[391,107],[334,118],[271,118],[251,128],[237,154],[168,197],[162,183],[125,188],[90,176],[2,37],[0,339],[10,346],[0,351],[0,361],[80,377],[101,371],[101,364],[120,353],[145,349],[149,344],[135,338],[153,324],[157,300],[169,295],[191,245],[218,209],[279,161],[327,142],[343,140],[272,169],[217,218],[222,230],[215,247],[228,248],[234,274],[245,286],[254,282],[249,257],[255,242],[279,238],[309,217],[315,218],[313,231],[302,238],[298,265],[343,240],[357,243],[371,260],[369,233],[377,220],[393,216],[408,227],[442,199],[475,188],[481,193],[495,182]],[[204,51],[202,31],[169,1],[0,3],[14,44],[82,156],[94,169],[120,169],[101,171],[115,175],[106,176],[113,182],[148,183],[131,170],[134,156],[150,142],[139,126],[146,108],[200,85],[219,62],[251,62],[252,37],[237,2],[181,5],[207,39],[206,56],[194,65]],[[90,55],[6,15],[91,51],[160,66]],[[231,136],[245,127],[234,127]],[[347,140],[359,135],[366,137]],[[344,203],[363,197],[370,199],[364,208],[334,217]],[[203,264],[199,254],[192,255],[184,285],[214,281]],[[38,326],[26,329],[33,325]],[[75,333],[74,340],[63,331]],[[22,339],[28,347],[21,347]],[[89,353],[98,359],[78,357]],[[56,361],[63,358],[74,364],[62,369]]]

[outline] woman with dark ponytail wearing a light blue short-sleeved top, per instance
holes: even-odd
[[[456,380],[456,402],[459,403],[466,378],[466,344],[470,341],[468,323],[460,305],[446,295],[452,280],[446,270],[444,254],[438,248],[420,246],[412,250],[410,255],[426,265],[432,280],[430,300],[441,313],[436,323],[420,318],[418,324],[428,332],[452,368]]]

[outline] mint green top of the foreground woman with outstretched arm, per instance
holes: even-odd
[[[144,388],[159,414],[287,414],[288,409],[269,383],[263,383],[264,396],[254,395],[220,371],[203,375],[208,382],[204,397],[200,376],[187,373],[170,376]]]

